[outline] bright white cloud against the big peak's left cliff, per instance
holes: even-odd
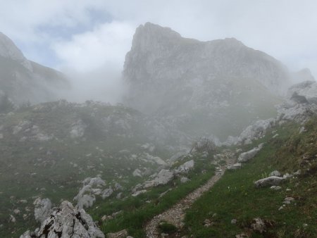
[[[135,27],[129,23],[105,23],[94,30],[74,35],[70,41],[53,45],[61,60],[60,68],[87,72],[99,68],[122,70],[125,54],[130,50]]]

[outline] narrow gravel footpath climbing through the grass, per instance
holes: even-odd
[[[233,163],[232,159],[227,161],[227,165],[231,165]],[[216,171],[216,174],[211,177],[206,184],[202,185],[198,189],[195,189],[194,192],[188,194],[184,199],[180,200],[173,207],[164,211],[163,213],[154,216],[149,223],[147,223],[145,227],[145,231],[147,232],[147,237],[156,238],[161,237],[160,232],[157,230],[157,226],[163,220],[175,225],[175,227],[181,228],[184,223],[182,221],[185,218],[185,210],[192,206],[192,203],[196,201],[204,192],[209,191],[211,187],[223,176],[227,165],[222,166],[220,169]]]

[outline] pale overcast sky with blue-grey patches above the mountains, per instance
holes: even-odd
[[[317,75],[315,0],[0,0],[0,15],[27,58],[59,70],[121,70],[135,28],[149,21],[202,41],[235,37]]]

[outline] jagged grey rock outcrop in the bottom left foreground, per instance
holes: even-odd
[[[35,232],[27,231],[20,236],[20,238],[42,237],[104,238],[104,234],[83,209],[77,210],[69,201],[63,201]]]

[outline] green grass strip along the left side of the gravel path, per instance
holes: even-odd
[[[145,237],[144,225],[154,215],[166,211],[180,201],[189,192],[204,184],[213,176],[214,167],[211,164],[212,156],[201,157],[197,155],[194,158],[195,168],[186,176],[191,179],[189,182],[182,184],[180,180],[174,180],[170,184],[151,189],[150,192],[141,194],[135,198],[129,197],[123,201],[108,201],[107,203],[96,204],[98,208],[89,211],[94,219],[101,223],[101,230],[106,234],[108,232],[118,232],[119,230],[128,229],[132,237]],[[189,160],[190,158],[187,158]],[[185,158],[186,161],[186,158]],[[184,161],[182,162],[184,163]],[[177,165],[175,165],[177,166]],[[204,173],[201,173],[204,171]],[[159,198],[159,195],[173,188],[166,195]],[[146,202],[148,201],[148,202]],[[102,215],[111,215],[116,211],[123,211],[115,219],[101,222]]]

